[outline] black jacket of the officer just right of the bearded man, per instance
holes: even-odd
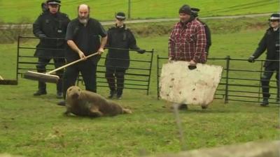
[[[111,27],[109,29],[106,47],[139,50],[132,31],[127,29],[125,25],[122,28]],[[127,69],[130,66],[130,52],[128,50],[109,49],[105,65],[107,68]]]

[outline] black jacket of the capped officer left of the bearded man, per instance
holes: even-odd
[[[70,20],[68,15],[64,13],[58,12],[55,15],[52,15],[49,11],[41,13],[33,24],[34,36],[39,38],[48,37],[61,39],[41,38],[40,43],[38,43],[36,47],[64,49],[66,45],[64,38],[69,22]],[[64,57],[64,52],[54,50],[36,50],[34,55],[37,57]]]

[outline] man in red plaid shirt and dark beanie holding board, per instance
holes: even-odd
[[[180,22],[174,26],[169,37],[169,61],[190,61],[189,68],[205,63],[207,40],[203,24],[195,19],[188,5],[179,9],[179,17]],[[179,109],[188,109],[188,105],[180,104]]]

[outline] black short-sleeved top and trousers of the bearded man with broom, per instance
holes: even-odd
[[[90,18],[87,25],[84,26],[78,20],[78,18],[72,20],[67,28],[66,40],[73,40],[78,48],[84,52],[85,56],[93,54],[99,50],[100,38],[106,37],[106,31],[97,20]],[[80,59],[77,52],[67,46],[66,48],[66,61],[70,63]],[[83,76],[85,82],[85,89],[87,91],[96,92],[96,71],[97,62],[100,59],[100,55],[90,57],[85,61],[80,61],[72,66],[66,68],[64,73],[64,98],[66,90],[73,86],[76,82],[79,72]]]

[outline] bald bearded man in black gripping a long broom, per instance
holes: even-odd
[[[101,38],[100,38],[101,36]],[[97,20],[90,17],[90,7],[81,4],[78,6],[78,17],[71,20],[67,27],[65,39],[67,40],[66,61],[70,63],[78,59],[85,59],[85,56],[98,52],[84,61],[68,66],[64,73],[63,92],[75,85],[78,74],[81,73],[87,91],[97,92],[96,72],[97,63],[104,52],[107,33]],[[65,101],[57,103],[65,105]]]

